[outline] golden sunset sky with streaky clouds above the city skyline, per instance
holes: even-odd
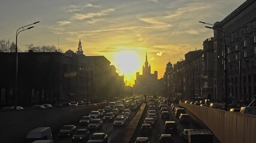
[[[55,45],[85,55],[104,55],[124,74],[129,85],[147,58],[151,72],[164,75],[184,55],[203,48],[213,36],[204,24],[227,17],[245,0],[1,0],[0,39],[15,41],[16,30],[40,21],[19,34],[18,48]]]

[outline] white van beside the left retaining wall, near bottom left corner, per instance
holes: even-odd
[[[36,140],[52,140],[52,129],[50,127],[40,127],[31,130],[26,135],[27,142],[33,142]]]

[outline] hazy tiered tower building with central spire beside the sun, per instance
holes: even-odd
[[[136,73],[135,79],[135,94],[143,94],[143,95],[158,95],[158,72],[154,71],[151,73],[151,66],[147,61],[147,53],[146,60],[144,65],[142,66],[142,74],[139,72]]]

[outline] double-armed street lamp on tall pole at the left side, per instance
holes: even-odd
[[[37,22],[34,22],[32,24],[28,24],[26,26],[22,26],[20,27],[19,29],[17,29],[16,31],[16,47],[15,47],[15,54],[16,54],[16,75],[15,75],[15,91],[14,91],[14,110],[16,110],[16,107],[17,107],[17,95],[18,95],[18,46],[17,46],[17,41],[18,41],[18,35],[20,32],[23,32],[25,30],[29,30],[29,29],[32,29],[34,28],[34,26],[31,26],[33,24],[37,24],[39,23],[40,21],[37,21]],[[31,27],[28,27],[28,26],[31,26]],[[26,28],[28,27],[28,28]],[[21,29],[21,30],[20,30]]]

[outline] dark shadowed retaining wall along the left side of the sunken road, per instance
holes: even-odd
[[[77,124],[82,116],[103,108],[107,102],[77,107],[50,108],[43,110],[16,110],[0,112],[0,141],[24,142],[26,135],[38,127],[51,127],[53,132],[62,125]]]

